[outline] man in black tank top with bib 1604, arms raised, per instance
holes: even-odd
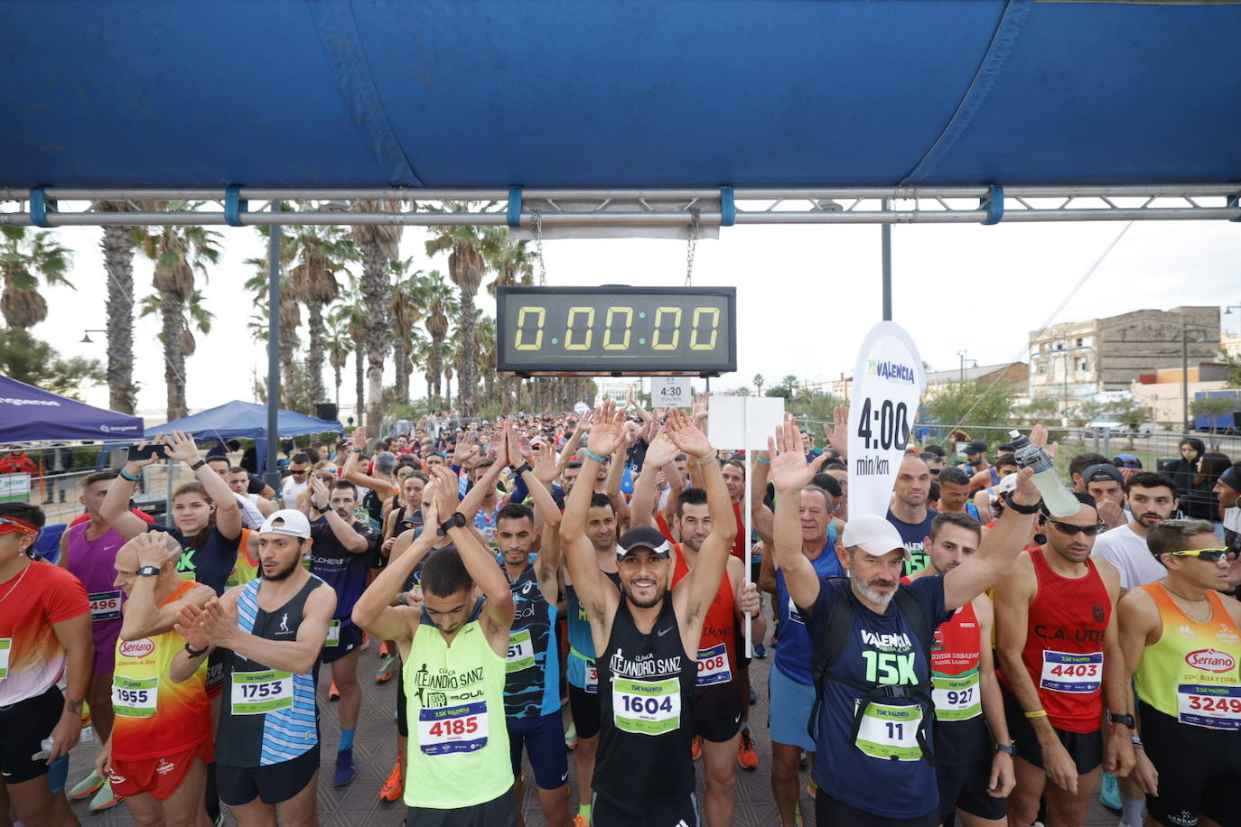
[[[624,412],[611,400],[596,412],[582,460],[587,479],[620,445],[623,419]],[[603,719],[593,780],[596,827],[635,818],[668,827],[699,823],[690,758],[697,645],[727,565],[736,521],[715,450],[689,414],[673,409],[665,433],[704,466],[711,517],[697,564],[670,594],[670,546],[658,529],[640,526],[620,537],[618,593],[599,570],[585,533],[587,486],[573,486],[561,522],[570,575],[598,653]]]

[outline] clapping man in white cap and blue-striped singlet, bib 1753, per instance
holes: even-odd
[[[319,709],[315,667],[336,593],[302,565],[310,521],[274,512],[258,529],[262,577],[177,614],[186,640],[170,673],[186,679],[225,651],[225,702],[216,733],[220,800],[237,823],[315,823]]]

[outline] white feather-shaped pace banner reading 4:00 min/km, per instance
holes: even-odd
[[[905,329],[891,321],[871,327],[849,400],[849,513],[887,513],[925,389],[922,358]]]

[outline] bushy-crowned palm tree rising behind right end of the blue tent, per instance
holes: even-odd
[[[309,353],[307,374],[309,402],[324,399],[323,389],[323,309],[340,295],[336,274],[346,262],[357,260],[357,248],[344,227],[290,227],[294,232],[282,241],[290,248],[293,267],[289,281],[293,294],[307,306]]]

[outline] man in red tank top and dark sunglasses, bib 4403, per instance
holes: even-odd
[[[1111,563],[1091,559],[1103,526],[1095,500],[1076,496],[1081,507],[1071,517],[1054,518],[1044,506],[1045,542],[1023,552],[995,588],[1000,682],[1018,753],[1011,823],[1031,823],[1041,796],[1049,823],[1083,825],[1100,766],[1118,776],[1133,766],[1132,693],[1114,619],[1121,578]]]

